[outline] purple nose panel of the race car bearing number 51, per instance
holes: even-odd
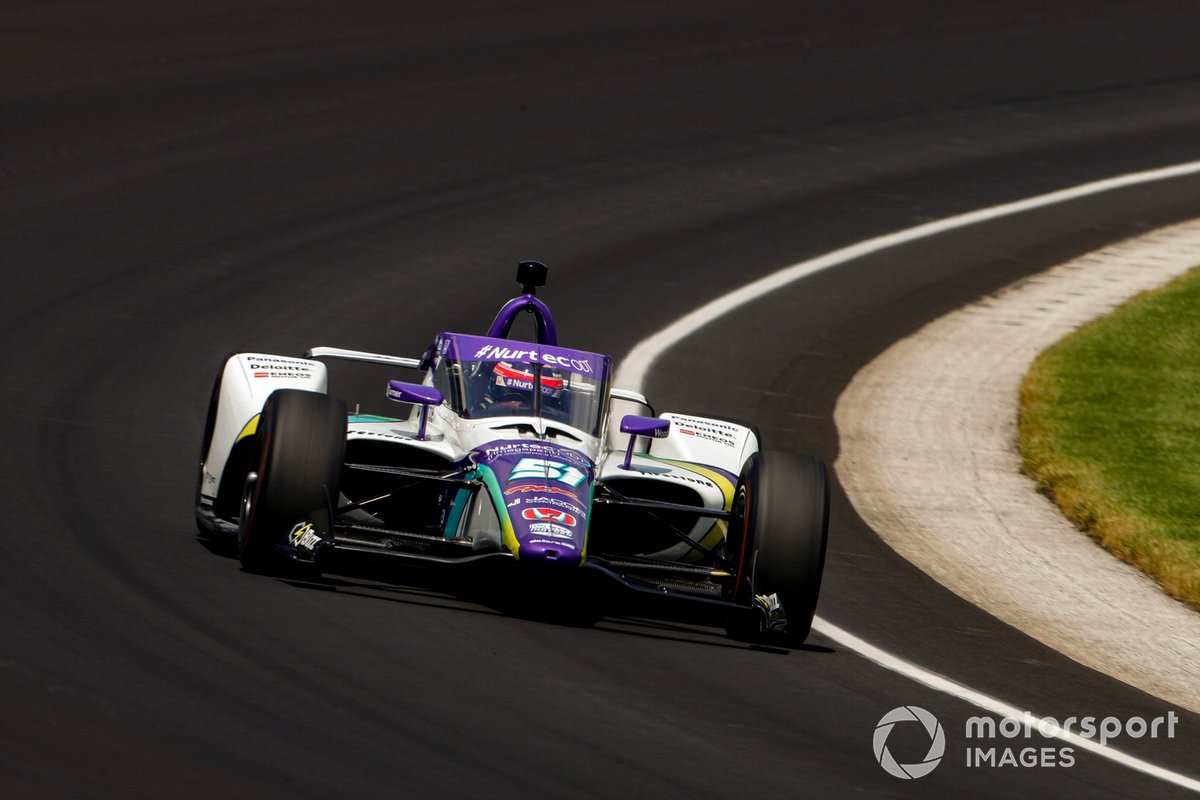
[[[548,441],[498,440],[472,461],[487,467],[499,487],[522,560],[577,565],[587,545],[595,464]]]

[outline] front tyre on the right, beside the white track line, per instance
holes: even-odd
[[[734,599],[760,604],[767,622],[781,610],[787,642],[802,644],[812,627],[824,571],[829,533],[824,464],[784,452],[751,456],[738,481],[730,541],[740,549],[744,576]],[[730,634],[752,638],[761,630],[751,631],[740,618],[731,621]]]

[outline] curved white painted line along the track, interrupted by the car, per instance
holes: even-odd
[[[1164,167],[1162,169],[1151,169],[1141,173],[1130,173],[1128,175],[1118,175],[1116,178],[1093,181],[1081,186],[1073,186],[1070,188],[1050,192],[1048,194],[1038,194],[1037,197],[1016,200],[1014,203],[1004,203],[986,209],[979,209],[978,211],[971,211],[968,213],[960,213],[944,219],[928,222],[883,236],[868,239],[865,241],[835,249],[832,253],[826,253],[824,255],[818,255],[817,258],[793,264],[792,266],[784,267],[778,272],[758,278],[740,289],[736,289],[704,303],[691,313],[680,317],[659,332],[638,342],[634,349],[630,350],[629,355],[622,361],[620,368],[617,371],[614,384],[625,389],[642,391],[642,384],[646,380],[647,372],[654,361],[658,360],[659,356],[661,356],[666,350],[694,335],[709,323],[715,321],[718,318],[724,317],[725,314],[767,294],[770,294],[775,289],[786,287],[790,283],[794,283],[800,278],[809,277],[810,275],[815,275],[822,270],[846,264],[847,261],[852,261],[864,255],[878,253],[880,251],[889,247],[896,247],[898,245],[905,245],[920,239],[926,239],[929,236],[936,236],[937,234],[956,230],[959,228],[966,228],[967,225],[973,225],[980,222],[989,222],[1001,217],[1012,216],[1014,213],[1020,213],[1022,211],[1042,209],[1058,203],[1076,200],[1093,194],[1102,194],[1104,192],[1111,192],[1128,186],[1152,184],[1154,181],[1182,178],[1198,173],[1200,173],[1200,161],[1176,164],[1174,167]],[[864,658],[875,662],[884,669],[905,675],[918,684],[929,686],[930,688],[937,690],[952,697],[956,697],[991,714],[997,714],[1000,716],[1015,716],[1018,718],[1024,717],[1025,712],[1009,703],[1004,703],[1003,700],[977,692],[973,688],[932,673],[924,667],[905,661],[904,658],[894,656],[886,650],[881,650],[869,642],[858,638],[853,633],[850,633],[848,631],[845,631],[820,616],[812,621],[812,630],[833,639],[844,648],[857,652]],[[1038,721],[1040,722],[1040,718],[1038,718]],[[1128,766],[1129,769],[1138,770],[1193,792],[1200,792],[1200,781],[1187,775],[1172,772],[1171,770],[1157,766],[1140,758],[1135,758],[1128,753],[1109,747],[1108,745],[1102,745],[1092,739],[1084,739],[1070,733],[1061,733],[1058,738],[1064,741],[1069,741],[1073,746],[1092,752],[1102,758],[1108,758],[1109,760]]]

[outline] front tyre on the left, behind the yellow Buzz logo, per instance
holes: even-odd
[[[346,453],[346,403],[317,392],[280,389],[266,398],[256,434],[257,471],[242,492],[238,555],[250,572],[283,567],[275,545],[298,523],[332,535]]]

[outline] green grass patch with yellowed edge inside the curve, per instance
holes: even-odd
[[[1038,356],[1020,450],[1069,519],[1200,608],[1200,269]]]

